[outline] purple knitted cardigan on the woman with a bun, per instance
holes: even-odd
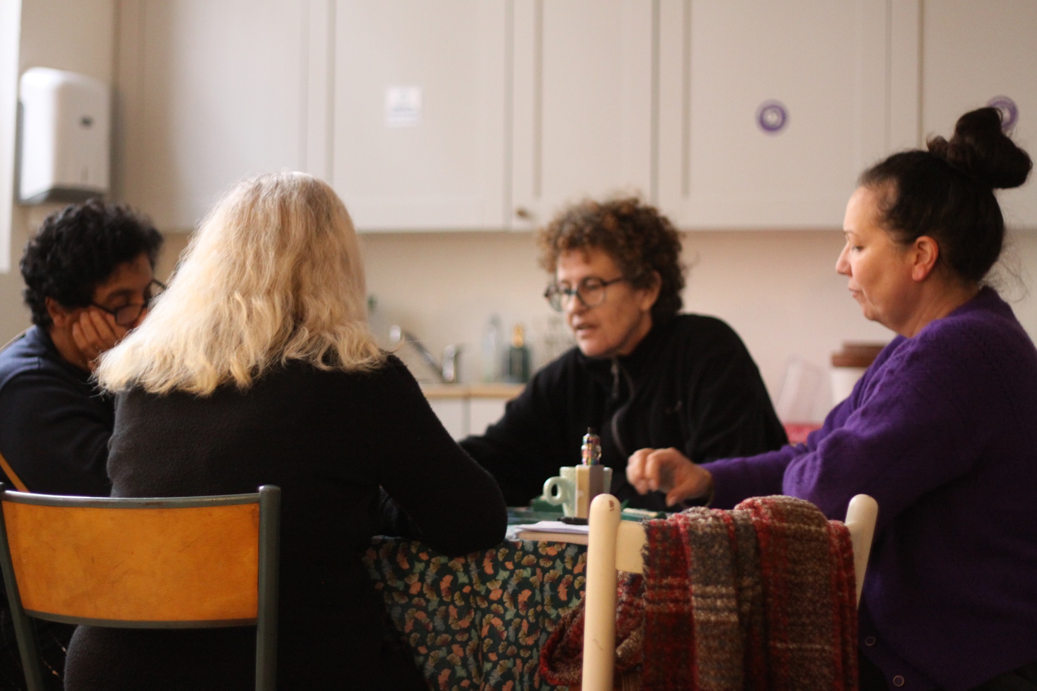
[[[992,289],[894,339],[806,444],[707,467],[721,509],[782,493],[841,519],[875,497],[860,645],[891,685],[1037,661],[1037,350]]]

